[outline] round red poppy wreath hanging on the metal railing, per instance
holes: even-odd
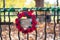
[[[32,13],[33,13],[33,11],[18,13],[18,18],[16,18],[15,22],[16,22],[16,27],[20,32],[22,32],[24,34],[27,34],[27,33],[30,33],[32,31],[36,30],[36,27],[35,27],[36,24],[37,24],[36,16],[34,14],[32,14]],[[32,19],[32,22],[31,22],[32,27],[28,27],[26,30],[24,30],[24,28],[21,27],[21,24],[20,24],[20,22],[21,22],[20,19],[22,17],[31,18]]]

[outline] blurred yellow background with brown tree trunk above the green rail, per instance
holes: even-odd
[[[32,8],[60,6],[60,0],[5,0],[5,8]],[[0,0],[0,8],[3,8],[3,0]]]

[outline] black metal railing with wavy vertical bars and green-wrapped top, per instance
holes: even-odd
[[[11,21],[11,16],[17,16],[17,15],[10,15],[10,12],[19,12],[19,10],[20,10],[21,8],[5,8],[5,0],[3,0],[3,8],[0,8],[0,39],[1,40],[3,40],[3,37],[2,37],[2,26],[1,25],[8,25],[9,26],[9,39],[10,40],[12,40],[12,38],[11,38],[11,28],[10,28],[10,25],[12,25],[12,24],[14,24],[13,22],[10,22]],[[51,12],[53,12],[53,14],[54,15],[50,15],[50,16],[54,16],[54,38],[53,38],[53,40],[55,40],[55,38],[56,38],[56,31],[55,31],[55,27],[56,27],[56,20],[55,20],[55,16],[57,16],[57,23],[59,23],[59,11],[60,11],[60,8],[58,7],[58,8],[23,8],[23,10],[26,10],[26,9],[33,9],[35,12],[36,12],[36,17],[37,16],[41,16],[41,15],[38,15],[37,14],[37,11],[43,11],[44,13],[45,13],[45,15],[44,16],[46,16],[46,12],[48,12],[48,11],[51,11],[51,9],[52,9],[52,11]],[[16,11],[16,10],[18,10],[18,11]],[[2,14],[2,12],[4,13],[4,15],[1,15]],[[6,15],[6,12],[8,12],[8,15]],[[57,12],[57,15],[55,15],[55,13]],[[3,22],[1,22],[2,21],[2,18],[1,17],[4,17],[4,21]],[[6,22],[6,16],[8,16],[8,18],[9,18],[9,22]],[[46,20],[47,19],[45,19],[45,28],[44,28],[44,33],[45,33],[45,38],[44,38],[44,40],[46,40],[46,37],[47,37],[47,32],[46,32]],[[35,31],[36,32],[36,37],[35,37],[35,40],[37,40],[37,30]],[[20,32],[18,31],[18,40],[20,40]],[[27,40],[29,40],[29,34],[27,34]]]

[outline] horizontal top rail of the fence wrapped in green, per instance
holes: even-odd
[[[6,12],[16,12],[16,10],[36,10],[36,11],[60,11],[60,7],[50,7],[50,8],[0,8],[0,11],[6,11]]]

